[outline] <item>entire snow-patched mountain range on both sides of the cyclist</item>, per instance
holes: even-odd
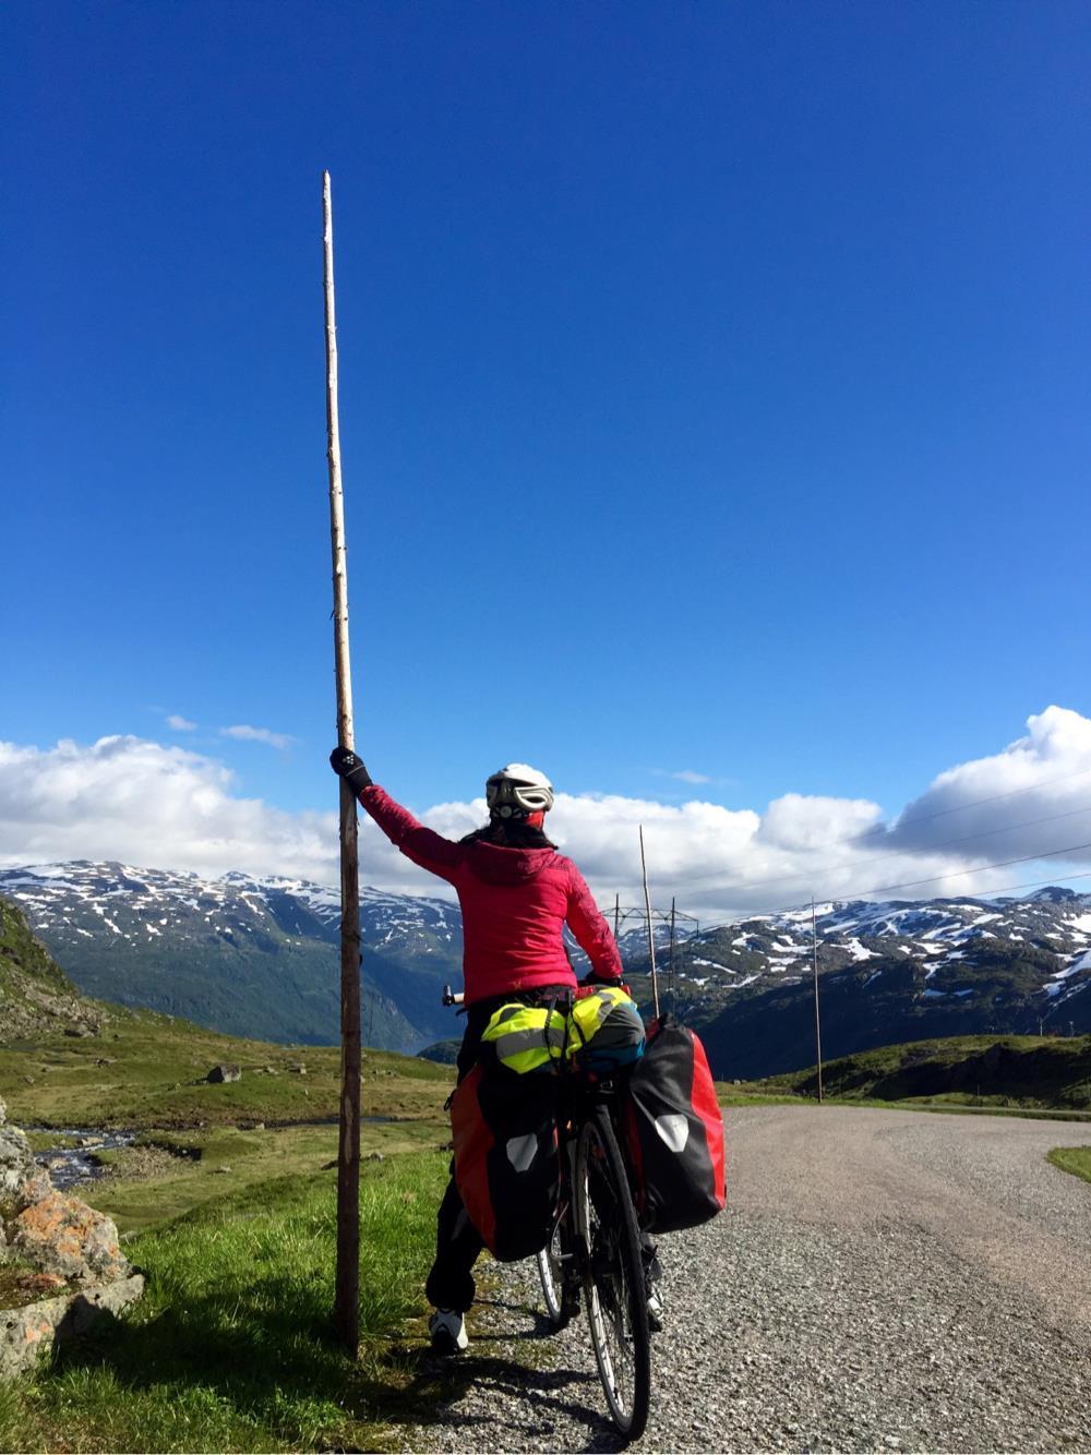
[[[0,895],[90,995],[262,1039],[337,1037],[336,889],[80,861],[0,870]],[[365,1040],[457,1036],[439,994],[461,982],[458,906],[361,888],[361,928]],[[969,1032],[1091,1032],[1091,895],[826,902],[816,930],[826,1056]],[[665,978],[669,938],[658,924]],[[620,946],[646,998],[644,928]],[[813,949],[809,908],[690,936],[679,921],[676,1008],[720,1074],[813,1062]]]

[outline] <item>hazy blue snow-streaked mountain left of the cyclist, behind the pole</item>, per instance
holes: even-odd
[[[337,890],[76,861],[0,870],[0,895],[89,995],[257,1039],[337,1039]],[[361,936],[365,1037],[403,1049],[449,1033],[458,906],[361,888]]]

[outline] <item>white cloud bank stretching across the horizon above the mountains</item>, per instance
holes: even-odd
[[[419,816],[458,838],[484,822],[484,799]],[[1001,752],[938,774],[890,824],[864,799],[786,793],[758,812],[562,793],[548,828],[601,902],[620,893],[634,904],[642,824],[653,899],[675,895],[679,909],[703,918],[788,906],[812,892],[980,895],[1042,877],[1036,867],[1063,880],[1091,869],[1091,719],[1047,707]],[[364,883],[445,889],[364,813],[359,851]],[[180,746],[134,736],[47,749],[0,742],[0,867],[73,858],[335,883],[337,818],[240,797],[223,762]]]

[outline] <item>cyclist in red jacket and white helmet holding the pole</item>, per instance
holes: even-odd
[[[500,1004],[547,1004],[576,988],[564,950],[566,924],[591,959],[591,978],[607,984],[621,979],[614,936],[583,876],[543,832],[553,808],[553,786],[544,774],[522,762],[495,773],[486,784],[489,824],[454,842],[417,824],[371,781],[353,752],[335,748],[330,764],[348,778],[387,838],[458,893],[467,1007],[460,1080],[473,1067],[481,1032]],[[426,1285],[435,1305],[429,1333],[439,1352],[454,1353],[468,1343],[463,1315],[473,1304],[471,1269],[481,1247],[451,1177],[439,1206],[436,1257]]]

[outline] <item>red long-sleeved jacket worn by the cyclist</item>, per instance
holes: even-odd
[[[457,889],[467,1004],[535,985],[575,985],[564,924],[601,979],[621,978],[614,936],[570,858],[553,848],[455,844],[417,824],[378,784],[364,789],[359,802],[406,858]]]

